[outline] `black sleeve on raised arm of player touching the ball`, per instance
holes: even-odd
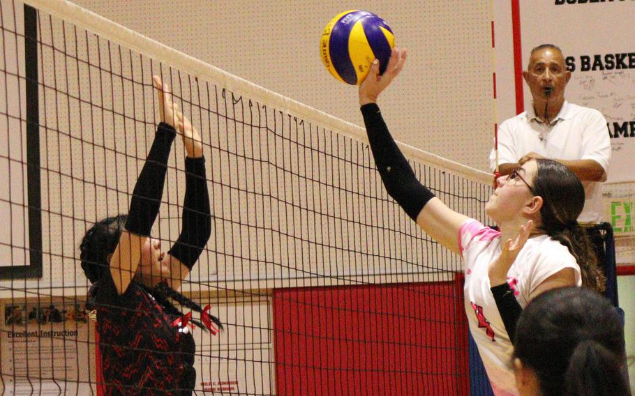
[[[419,183],[401,150],[388,131],[378,105],[369,103],[361,107],[364,124],[371,143],[375,165],[388,194],[417,221],[421,209],[434,194]]]

